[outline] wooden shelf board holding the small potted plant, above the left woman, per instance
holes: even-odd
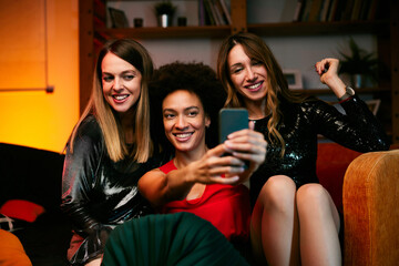
[[[96,29],[99,34],[108,38],[137,39],[187,39],[187,38],[224,38],[231,34],[229,25],[203,27],[144,27],[125,29]]]

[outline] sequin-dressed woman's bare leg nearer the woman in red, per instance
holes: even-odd
[[[250,239],[255,259],[268,265],[299,265],[296,185],[284,175],[270,177],[255,204]]]

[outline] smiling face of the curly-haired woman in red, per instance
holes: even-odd
[[[205,127],[211,121],[196,94],[172,92],[163,100],[162,112],[166,137],[176,152],[205,151]]]

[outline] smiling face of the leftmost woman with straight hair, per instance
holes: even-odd
[[[111,52],[104,57],[101,71],[105,101],[120,114],[126,113],[140,98],[141,72]]]

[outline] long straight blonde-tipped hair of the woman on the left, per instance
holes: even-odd
[[[121,121],[103,96],[101,63],[109,52],[131,63],[142,74],[141,93],[135,105],[135,117],[132,121],[134,122],[134,149],[130,154]],[[129,155],[139,163],[146,162],[153,153],[153,143],[150,136],[150,96],[147,86],[152,74],[153,62],[142,44],[132,39],[119,39],[106,42],[99,53],[89,103],[71,134],[71,153],[73,153],[73,143],[79,125],[88,115],[93,114],[100,124],[106,151],[112,161],[117,162]]]

